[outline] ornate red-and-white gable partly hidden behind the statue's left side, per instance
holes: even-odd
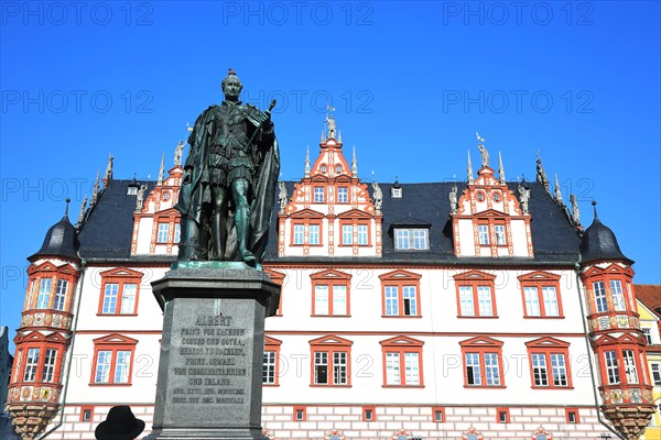
[[[163,178],[163,164],[155,187],[143,184],[136,195],[131,255],[176,255],[180,237],[178,199],[184,169],[175,164]],[[153,185],[153,184],[152,184]]]

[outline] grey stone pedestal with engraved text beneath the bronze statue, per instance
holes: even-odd
[[[164,318],[154,424],[144,439],[266,440],[264,318],[275,315],[280,287],[242,263],[185,265],[152,283]]]

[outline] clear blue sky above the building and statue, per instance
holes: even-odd
[[[465,178],[475,132],[508,179],[540,150],[563,195],[593,199],[637,283],[661,283],[659,2],[22,2],[1,7],[2,290],[13,333],[25,257],[72,198],[75,222],[109,153],[158,175],[186,123],[223,99],[273,112],[282,178],[314,157],[328,102],[359,175]]]

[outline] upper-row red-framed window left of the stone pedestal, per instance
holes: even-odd
[[[129,268],[101,272],[98,315],[137,315],[142,273]]]

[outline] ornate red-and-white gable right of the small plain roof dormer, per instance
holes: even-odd
[[[478,147],[481,167],[474,178],[469,153],[466,188],[451,213],[455,255],[533,257],[530,213],[507,186],[502,161],[497,177],[484,144]]]

